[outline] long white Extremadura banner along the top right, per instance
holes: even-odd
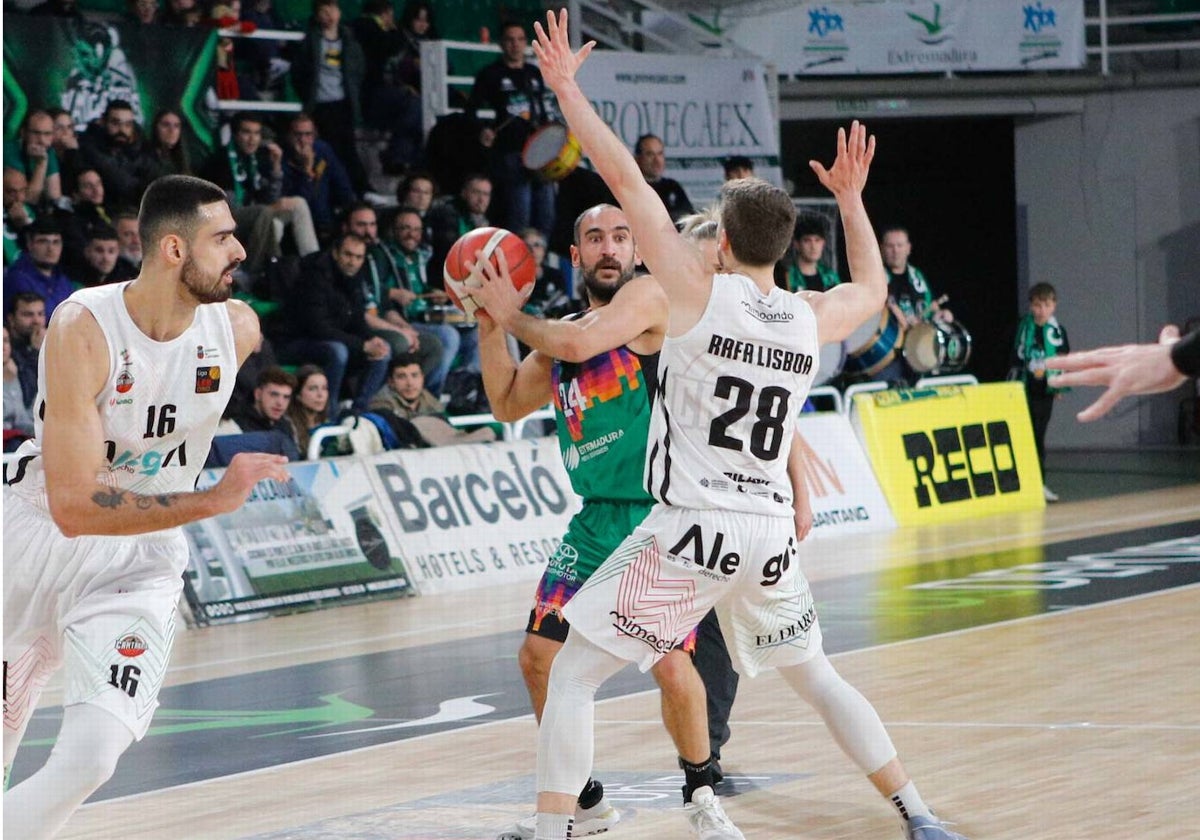
[[[1084,0],[827,0],[726,32],[794,76],[1073,70]]]

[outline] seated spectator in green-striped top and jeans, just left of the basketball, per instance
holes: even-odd
[[[466,368],[479,371],[478,326],[448,324],[433,317],[452,306],[445,292],[430,283],[430,258],[433,250],[424,241],[421,217],[412,208],[402,208],[391,222],[390,236],[383,250],[396,266],[396,283],[389,293],[389,304],[421,334],[422,343],[436,341],[442,347],[437,368],[426,374],[426,386],[442,392],[455,359]]]

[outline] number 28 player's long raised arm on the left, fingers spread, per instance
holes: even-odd
[[[712,270],[676,230],[671,214],[646,182],[632,154],[595,113],[575,79],[576,71],[587,60],[595,42],[583,44],[578,53],[571,52],[565,8],[557,16],[546,12],[545,29],[540,23],[533,28],[538,36],[533,52],[542,78],[558,97],[559,110],[571,132],[625,211],[646,264],[662,284],[672,305],[694,304],[698,299],[703,311],[708,302]]]

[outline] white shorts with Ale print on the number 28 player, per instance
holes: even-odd
[[[740,674],[821,650],[791,517],[655,505],[564,616],[572,631],[647,671],[713,606]]]

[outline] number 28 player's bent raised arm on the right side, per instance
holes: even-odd
[[[838,199],[842,228],[846,232],[846,258],[850,283],[828,292],[802,293],[817,316],[817,334],[822,344],[841,341],[871,314],[880,312],[888,295],[888,278],[875,229],[863,204],[863,188],[875,158],[875,138],[857,120],[838,130],[838,156],[826,169],[809,161],[817,178]]]

